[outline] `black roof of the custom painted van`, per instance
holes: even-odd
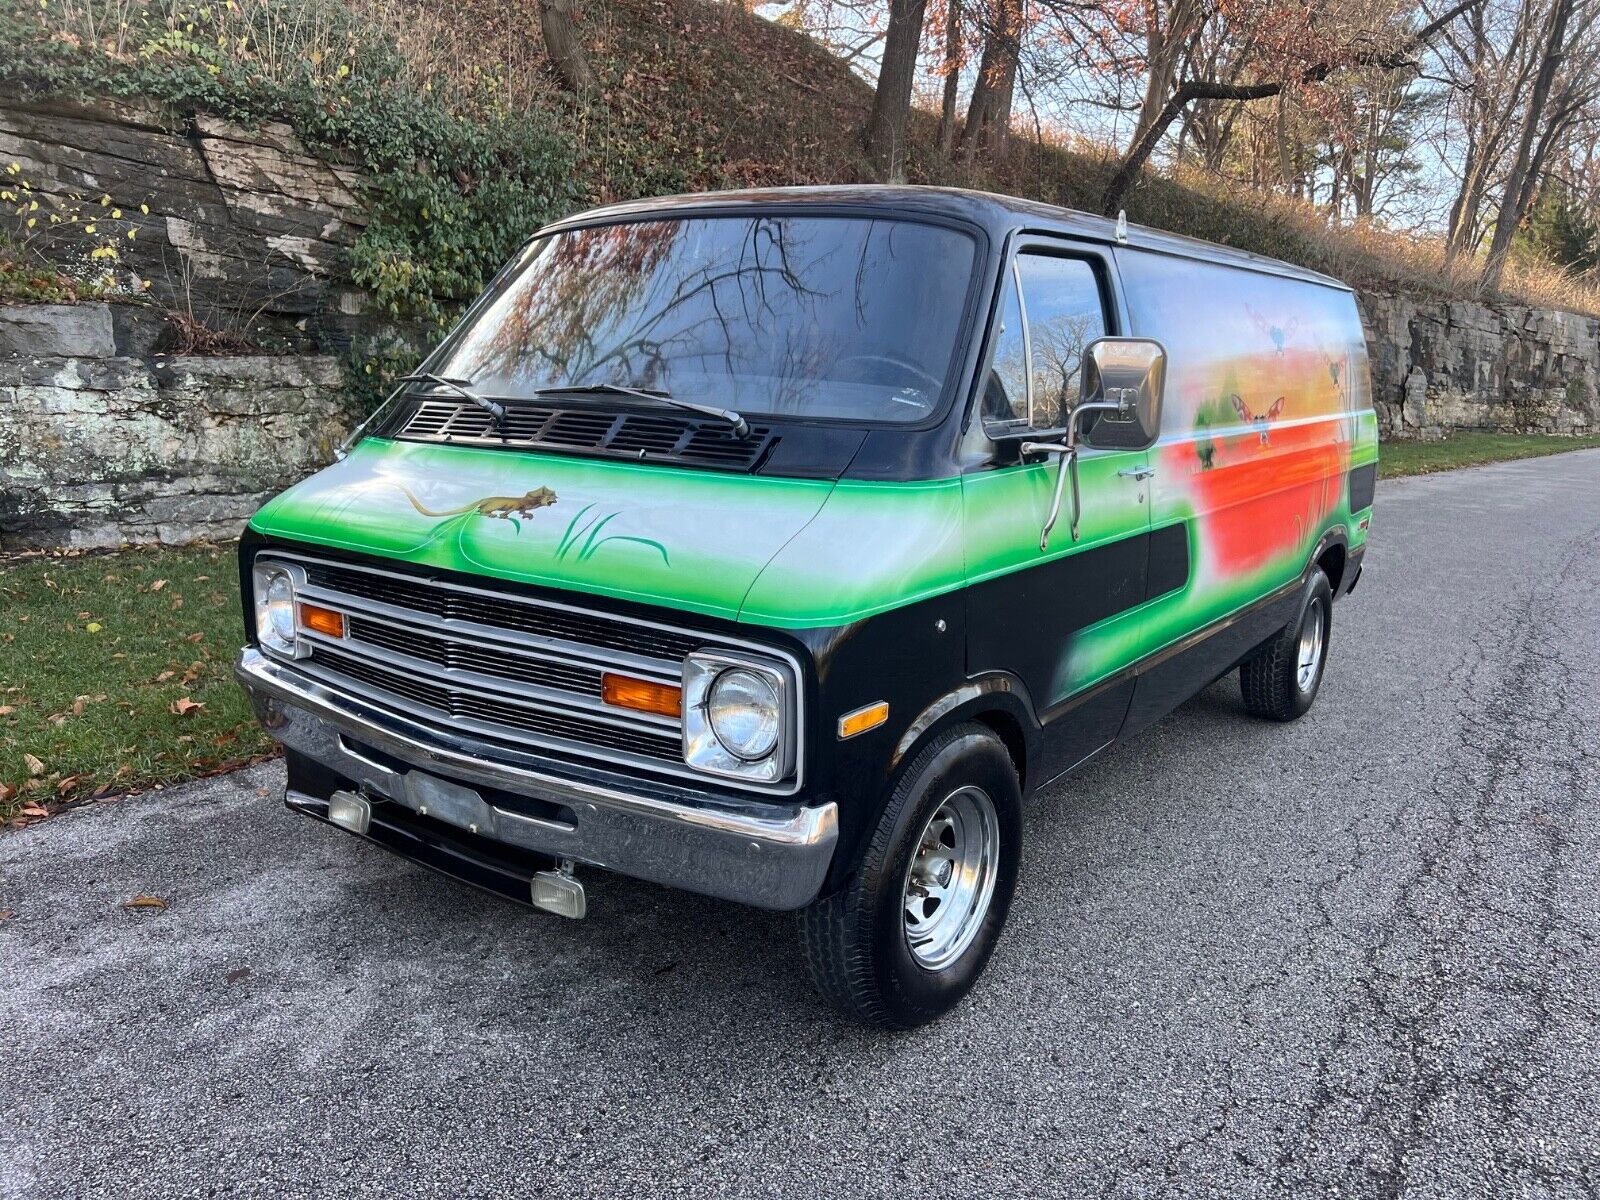
[[[728,210],[728,208],[776,208],[789,205],[829,206],[842,205],[851,208],[885,208],[901,213],[923,213],[930,216],[955,218],[982,226],[995,240],[1006,234],[1021,230],[1042,230],[1066,234],[1088,242],[1117,242],[1117,224],[1109,218],[1080,213],[1075,208],[1058,208],[1040,200],[1024,200],[1014,195],[997,192],[973,192],[962,187],[923,187],[910,184],[838,184],[824,187],[755,187],[738,192],[698,192],[693,195],[666,195],[648,200],[630,200],[605,208],[590,208],[557,221],[550,229],[563,226],[589,224],[611,218],[646,216],[654,213],[691,213],[696,210]],[[1222,246],[1214,242],[1202,242],[1194,237],[1168,234],[1147,226],[1128,226],[1128,246],[1149,250],[1160,254],[1178,254],[1182,258],[1219,262],[1245,270],[1261,270],[1272,275],[1318,283],[1330,288],[1350,291],[1347,283],[1323,275],[1307,267],[1283,262],[1264,254],[1253,254],[1246,250]]]

